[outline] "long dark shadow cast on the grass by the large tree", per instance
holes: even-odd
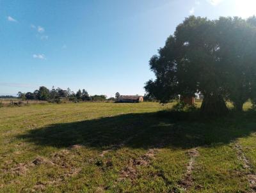
[[[67,148],[81,144],[99,150],[109,147],[172,147],[189,149],[221,145],[256,132],[256,112],[203,119],[197,112],[122,114],[95,120],[60,123],[29,130],[17,137],[40,146]]]

